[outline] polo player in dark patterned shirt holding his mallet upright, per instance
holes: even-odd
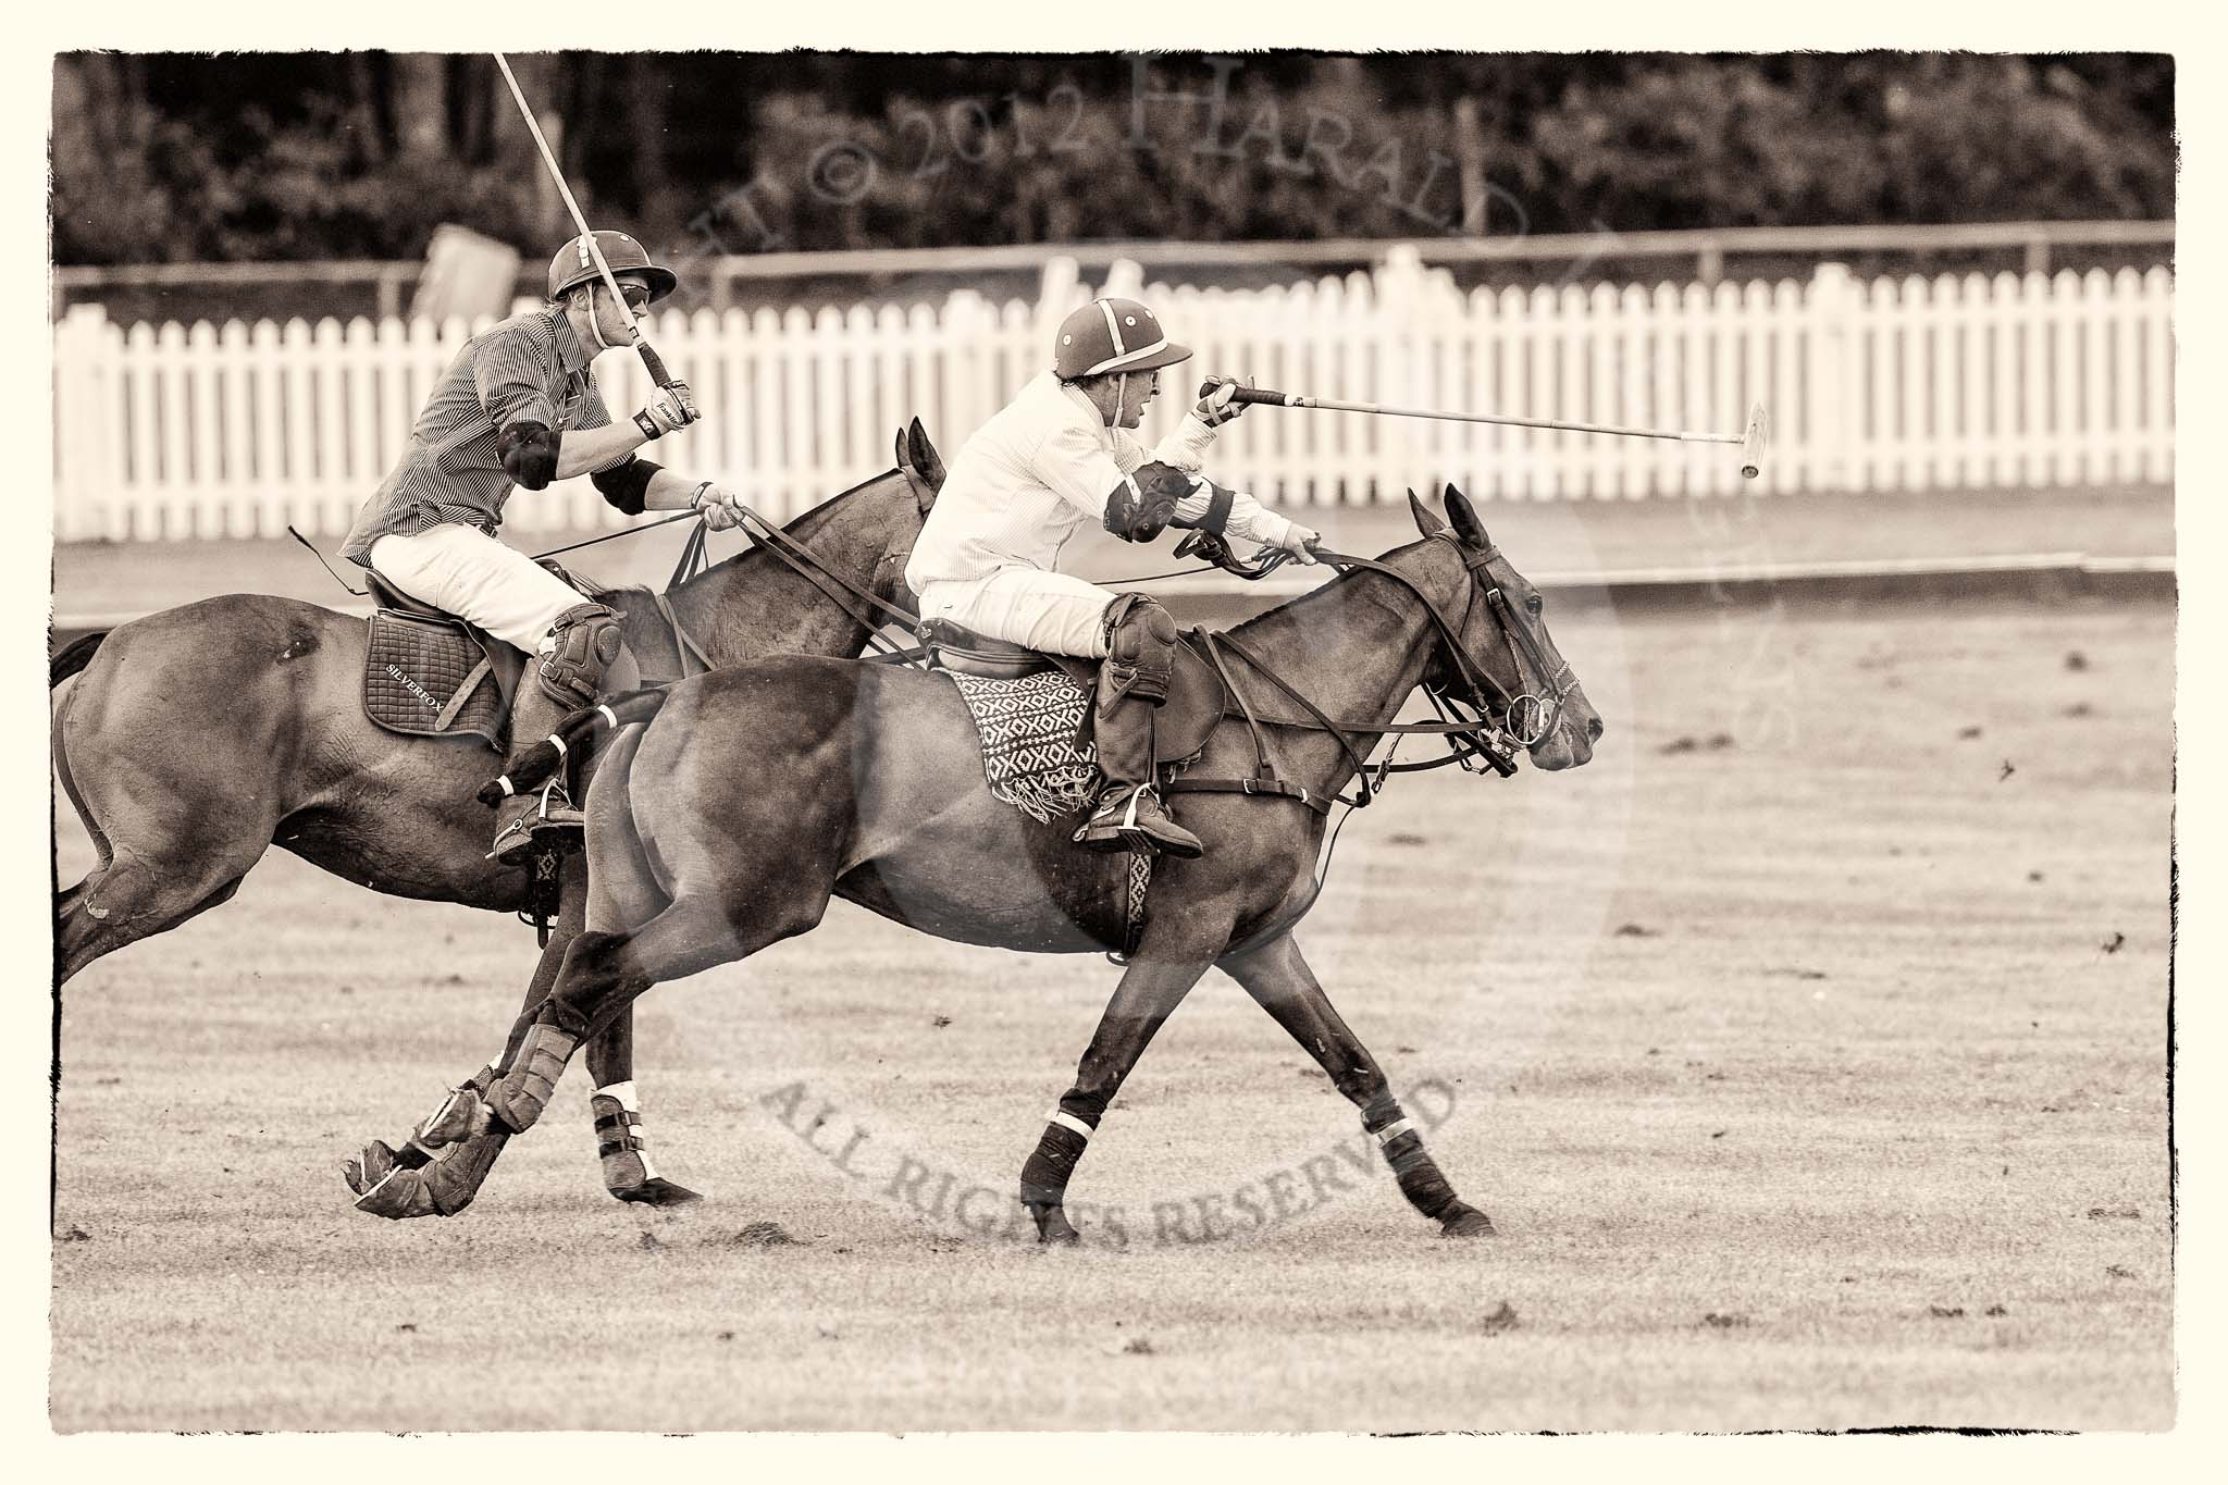
[[[635,450],[697,419],[686,383],[659,387],[626,423],[613,423],[588,363],[628,345],[628,325],[680,278],[651,263],[624,232],[597,232],[624,303],[595,269],[586,238],[550,258],[548,307],[472,336],[441,374],[401,463],[356,512],[341,554],[372,568],[410,597],[470,619],[497,639],[539,655],[539,686],[521,686],[510,717],[510,761],[595,704],[619,663],[619,614],[588,603],[524,552],[495,539],[504,501],[524,485],[588,474],[626,514],[702,510],[729,530],[733,492],[664,470]],[[615,677],[624,679],[624,677]],[[535,844],[577,850],[582,815],[557,781],[541,795],[506,799],[495,848],[506,864]]]

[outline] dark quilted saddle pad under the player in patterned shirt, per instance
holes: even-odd
[[[570,572],[541,563],[573,588]],[[365,568],[379,608],[363,646],[363,715],[405,737],[477,737],[504,753],[526,652]],[[582,590],[586,594],[586,590]]]

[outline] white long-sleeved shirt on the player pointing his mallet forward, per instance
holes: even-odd
[[[1049,572],[1076,530],[1105,523],[1107,496],[1141,463],[1159,459],[1196,474],[1210,443],[1214,430],[1188,412],[1176,432],[1147,450],[1127,430],[1107,427],[1092,399],[1045,372],[960,448],[905,563],[905,581],[920,592],[925,583],[965,583],[1000,568]],[[1208,499],[1188,494],[1176,514],[1196,521]],[[1292,523],[1239,494],[1225,530],[1281,543]]]

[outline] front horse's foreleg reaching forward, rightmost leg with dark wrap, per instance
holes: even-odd
[[[1315,1055],[1339,1093],[1361,1109],[1361,1129],[1377,1140],[1408,1204],[1437,1222],[1448,1238],[1479,1238],[1493,1231],[1486,1213],[1455,1196],[1439,1173],[1439,1162],[1424,1149],[1424,1135],[1408,1124],[1377,1060],[1332,1009],[1290,933],[1225,957],[1221,968],[1245,986],[1245,993]]]

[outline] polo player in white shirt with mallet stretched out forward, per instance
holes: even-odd
[[[1152,309],[1096,298],[1065,321],[1052,370],[976,430],[951,472],[905,581],[922,619],[1052,655],[1101,659],[1096,739],[1105,790],[1083,828],[1094,850],[1201,853],[1199,837],[1167,817],[1152,777],[1152,717],[1167,699],[1176,621],[1143,592],[1114,594],[1054,572],[1061,548],[1085,525],[1152,541],[1170,510],[1199,521],[1214,488],[1196,479],[1214,430],[1234,419],[1234,381],[1216,378],[1174,434],[1147,450],[1130,430],[1161,390],[1161,367],[1190,358]],[[1283,548],[1299,561],[1321,537],[1230,496],[1223,530]]]

